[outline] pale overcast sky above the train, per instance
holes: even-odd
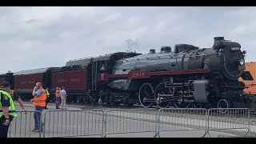
[[[255,16],[256,7],[0,7],[0,73],[129,47],[143,54],[178,43],[211,47],[216,36],[239,42],[246,62],[256,61]]]

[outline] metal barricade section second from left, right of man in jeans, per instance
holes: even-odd
[[[103,137],[103,110],[47,110],[43,138]]]

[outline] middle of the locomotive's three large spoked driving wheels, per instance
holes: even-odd
[[[156,103],[160,108],[167,108],[170,106],[170,102],[162,102],[163,97],[158,96],[158,94],[173,94],[173,90],[170,87],[165,87],[165,83],[161,82],[158,84],[155,89],[154,98],[156,99]]]

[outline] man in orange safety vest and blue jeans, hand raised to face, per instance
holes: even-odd
[[[46,90],[42,88],[41,82],[37,82],[35,84],[32,95],[34,96],[34,99],[31,99],[30,102],[33,102],[35,110],[40,111],[42,114],[42,110],[44,110],[46,106]],[[42,119],[40,118],[41,114],[38,112],[34,112],[34,129],[32,130],[33,132],[39,132],[40,127],[42,130]]]

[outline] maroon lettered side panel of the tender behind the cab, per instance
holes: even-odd
[[[74,70],[53,73],[52,88],[64,86],[66,90],[86,90],[86,72],[86,70]]]

